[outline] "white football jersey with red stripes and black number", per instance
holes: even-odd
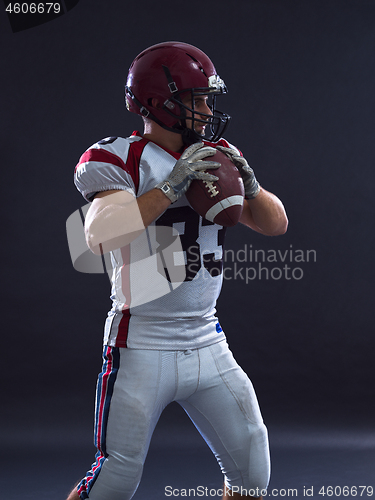
[[[224,139],[217,144],[229,147]],[[137,132],[126,139],[111,137],[82,155],[75,184],[88,201],[112,189],[138,197],[165,180],[180,156]],[[224,233],[182,196],[138,238],[111,252],[112,309],[104,344],[183,350],[223,340],[215,306]]]

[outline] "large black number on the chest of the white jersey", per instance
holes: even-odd
[[[161,232],[156,231],[156,241],[159,244],[157,252],[161,255],[161,259],[158,259],[158,271],[160,274],[165,276],[170,283],[174,280],[171,276],[171,266],[170,264],[166,266],[165,262],[174,262],[173,247],[170,244],[176,236],[173,236],[172,229],[173,224],[182,223],[185,224],[185,228],[182,234],[179,234],[182,250],[185,253],[185,264],[175,265],[174,268],[184,267],[185,279],[184,281],[192,281],[197,275],[198,271],[202,267],[201,262],[201,249],[198,243],[199,238],[199,220],[200,217],[192,208],[190,207],[176,207],[167,210],[159,219],[156,220],[156,226],[170,227],[171,232],[169,237],[165,237],[163,232],[163,237],[161,238]],[[213,225],[206,219],[202,219],[202,226]],[[218,230],[217,233],[217,245],[224,245],[225,237],[225,227]],[[159,236],[159,237],[158,237]],[[222,259],[215,259],[214,253],[202,255],[203,266],[207,269],[211,276],[219,276],[223,271],[223,261]],[[178,271],[178,269],[176,269]],[[181,276],[180,273],[176,273],[177,276]]]

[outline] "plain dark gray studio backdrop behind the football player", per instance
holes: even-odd
[[[226,248],[316,251],[287,259],[302,279],[226,280],[218,303],[270,430],[271,484],[301,496],[302,485],[375,485],[374,25],[373,0],[80,0],[18,33],[0,14],[4,498],[63,498],[93,459],[109,281],[71,264],[65,222],[85,204],[73,169],[92,143],[141,127],[123,84],[133,58],[165,40],[211,57],[229,89],[226,138],[289,216],[284,236],[235,227]],[[219,487],[191,432],[166,410],[136,498],[164,498],[157,481],[186,477]]]

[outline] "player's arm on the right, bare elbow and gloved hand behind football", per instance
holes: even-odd
[[[284,234],[288,218],[277,196],[263,189],[256,180],[253,169],[234,147],[217,149],[225,153],[238,168],[245,188],[245,201],[240,222],[267,236]]]

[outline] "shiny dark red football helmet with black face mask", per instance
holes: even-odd
[[[182,135],[185,144],[201,141],[195,132],[195,122],[209,125],[208,141],[216,142],[223,135],[230,116],[215,107],[216,96],[227,88],[216,74],[211,60],[193,45],[182,42],[164,42],[141,52],[130,66],[125,86],[126,106],[129,111],[154,120],[163,128]],[[191,108],[182,103],[191,94]],[[194,96],[212,96],[212,115],[194,111]],[[152,106],[156,98],[160,108]],[[186,126],[186,110],[191,112],[192,128]]]

